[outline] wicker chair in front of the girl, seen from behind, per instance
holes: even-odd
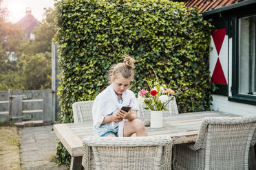
[[[82,165],[85,170],[171,169],[171,148],[169,136],[90,136],[83,140]]]

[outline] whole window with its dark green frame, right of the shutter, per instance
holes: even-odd
[[[256,105],[256,13],[237,12],[231,18],[232,96],[229,101]]]

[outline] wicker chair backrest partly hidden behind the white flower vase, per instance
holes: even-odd
[[[149,117],[150,116],[150,110],[146,110],[146,105],[144,103],[139,104],[140,111],[138,112],[138,117]],[[178,107],[176,103],[175,97],[173,97],[173,100],[169,102],[167,105],[168,111],[163,111],[164,115],[171,115],[171,114],[179,114]]]

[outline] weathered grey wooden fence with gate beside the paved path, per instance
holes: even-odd
[[[0,92],[0,122],[56,121],[54,90],[9,90]]]

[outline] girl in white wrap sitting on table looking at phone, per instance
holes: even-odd
[[[92,106],[94,135],[107,137],[147,136],[144,124],[137,119],[138,101],[134,93],[128,90],[134,79],[135,60],[125,56],[123,63],[111,66],[109,83],[102,93],[98,94]],[[128,112],[120,110],[130,106]]]

